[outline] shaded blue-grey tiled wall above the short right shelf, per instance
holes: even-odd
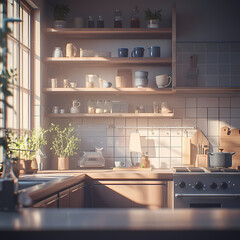
[[[199,75],[190,71],[190,56],[197,55]],[[240,87],[240,43],[178,43],[178,86]]]

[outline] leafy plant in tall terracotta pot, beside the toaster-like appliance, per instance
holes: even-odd
[[[58,156],[58,170],[68,170],[69,157],[77,154],[81,139],[74,136],[71,124],[61,130],[58,124],[51,123],[49,131],[53,133],[51,150]]]

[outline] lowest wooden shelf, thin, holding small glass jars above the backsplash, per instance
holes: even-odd
[[[88,114],[88,113],[63,113],[46,115],[48,118],[173,118],[173,113],[103,113],[103,114]]]

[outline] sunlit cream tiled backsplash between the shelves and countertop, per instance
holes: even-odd
[[[182,164],[182,137],[185,127],[201,129],[210,141],[211,151],[218,151],[219,131],[222,126],[240,128],[240,97],[237,95],[172,96],[169,97],[169,102],[176,102],[173,106],[174,119],[76,120],[73,124],[82,138],[80,149],[103,147],[106,167],[113,167],[114,160],[126,162],[129,166],[130,134],[138,129],[142,151],[148,152],[152,167],[168,168]],[[194,131],[187,132],[191,136]],[[77,159],[79,155],[75,160]]]

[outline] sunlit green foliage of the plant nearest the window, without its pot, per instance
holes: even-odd
[[[11,154],[14,154],[15,158],[24,160],[34,160],[37,154],[42,155],[41,146],[47,144],[47,131],[43,128],[37,128],[24,132],[20,137],[18,134],[10,132],[8,139]]]

